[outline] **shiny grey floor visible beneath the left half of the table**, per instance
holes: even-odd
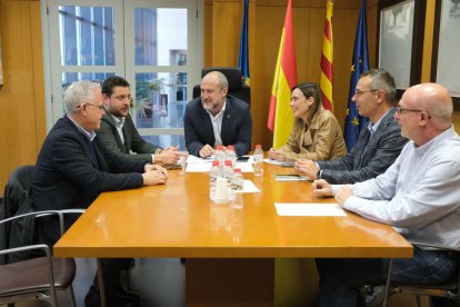
[[[73,291],[77,307],[84,307],[83,299],[96,273],[94,259],[77,259]],[[130,289],[141,296],[140,307],[181,307],[186,305],[186,269],[179,259],[136,259],[130,271]],[[59,306],[71,306],[66,294],[59,294]],[[17,307],[44,307],[44,301],[21,303]]]

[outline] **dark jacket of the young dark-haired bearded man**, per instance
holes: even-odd
[[[154,154],[158,149],[161,149],[161,147],[151,145],[142,139],[138,132],[138,129],[136,129],[130,115],[127,116],[123,125],[124,145],[121,142],[120,135],[117,131],[117,126],[112,116],[107,110],[101,120],[101,128],[96,131],[96,133],[109,150],[130,160],[151,162],[152,154]],[[138,155],[131,155],[130,150]]]

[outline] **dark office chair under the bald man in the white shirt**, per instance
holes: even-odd
[[[452,248],[452,247],[446,247],[446,246],[431,246],[431,245],[420,245],[418,246],[424,246],[424,247],[434,247],[434,248],[442,248],[446,250],[454,251],[458,258],[458,266],[460,265],[460,248]],[[406,283],[394,283],[391,284],[390,276],[391,276],[391,267],[392,267],[392,260],[390,259],[390,264],[388,267],[387,273],[387,285],[384,290],[384,298],[383,298],[383,307],[387,307],[388,305],[388,298],[392,294],[411,294],[416,295],[417,297],[417,305],[421,306],[421,296],[429,297],[429,306],[431,306],[431,297],[442,297],[447,299],[451,299],[456,301],[458,305],[460,305],[460,270],[457,267],[457,273],[453,274],[453,276],[438,285],[421,285],[421,284],[406,284]]]

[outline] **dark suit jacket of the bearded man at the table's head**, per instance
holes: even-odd
[[[187,150],[194,156],[204,145],[214,146],[214,132],[208,112],[201,105],[201,98],[193,99],[187,105],[183,116]],[[251,150],[252,118],[249,105],[227,96],[226,111],[222,118],[221,139],[224,146],[233,145],[238,156]]]

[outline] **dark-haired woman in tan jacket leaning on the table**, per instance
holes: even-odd
[[[270,159],[287,162],[301,158],[333,160],[347,154],[337,118],[322,107],[318,83],[294,86],[291,90],[291,108],[294,122],[288,143],[270,150]]]

